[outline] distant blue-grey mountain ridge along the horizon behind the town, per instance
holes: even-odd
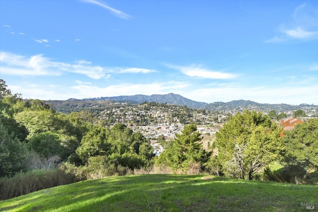
[[[300,105],[289,105],[289,104],[261,104],[250,100],[234,100],[230,102],[197,102],[191,99],[187,99],[179,94],[168,93],[164,95],[153,94],[153,95],[132,95],[132,96],[112,96],[112,97],[98,97],[98,98],[85,98],[85,99],[68,99],[65,101],[61,100],[50,100],[46,101],[48,104],[52,104],[53,107],[65,113],[72,111],[86,110],[87,108],[93,109],[94,111],[102,111],[107,108],[119,107],[120,104],[140,104],[143,102],[157,102],[167,103],[173,105],[186,105],[189,108],[194,109],[206,109],[210,111],[224,111],[235,113],[236,111],[243,111],[246,109],[263,111],[267,113],[270,110],[275,110],[277,113],[294,111],[298,109],[306,110],[306,114],[317,114],[318,105],[300,104]]]

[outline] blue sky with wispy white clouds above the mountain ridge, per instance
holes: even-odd
[[[0,78],[41,100],[318,105],[318,1],[0,0]]]

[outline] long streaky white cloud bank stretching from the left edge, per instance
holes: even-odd
[[[60,75],[72,72],[86,75],[93,79],[108,78],[108,73],[150,73],[155,70],[141,68],[119,68],[93,66],[85,60],[74,63],[53,62],[43,55],[20,56],[0,52],[1,73],[8,75]]]

